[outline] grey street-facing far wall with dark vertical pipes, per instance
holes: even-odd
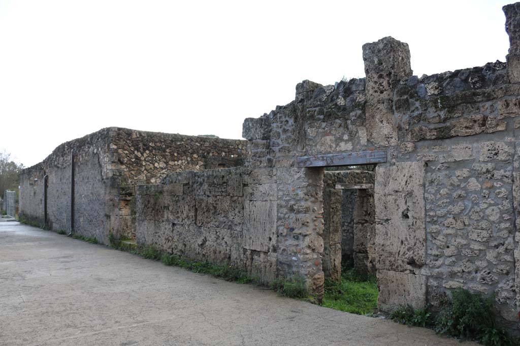
[[[47,226],[71,231],[72,154],[75,169],[74,231],[103,241],[107,217],[105,195],[110,171],[109,129],[58,146],[44,161],[20,175],[20,216],[44,225],[44,176],[47,182]]]

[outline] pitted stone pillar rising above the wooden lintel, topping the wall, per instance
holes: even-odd
[[[365,61],[368,139],[375,146],[393,146],[397,122],[393,111],[393,88],[412,75],[408,44],[392,37],[363,45]]]

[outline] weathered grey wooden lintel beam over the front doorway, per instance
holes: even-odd
[[[354,166],[386,162],[386,150],[358,151],[353,153],[298,156],[297,167]]]

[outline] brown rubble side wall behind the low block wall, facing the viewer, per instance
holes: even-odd
[[[135,237],[135,188],[159,183],[168,173],[243,165],[246,141],[118,129],[110,137],[110,232]]]

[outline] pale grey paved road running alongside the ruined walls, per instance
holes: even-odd
[[[0,345],[473,345],[0,223]]]

